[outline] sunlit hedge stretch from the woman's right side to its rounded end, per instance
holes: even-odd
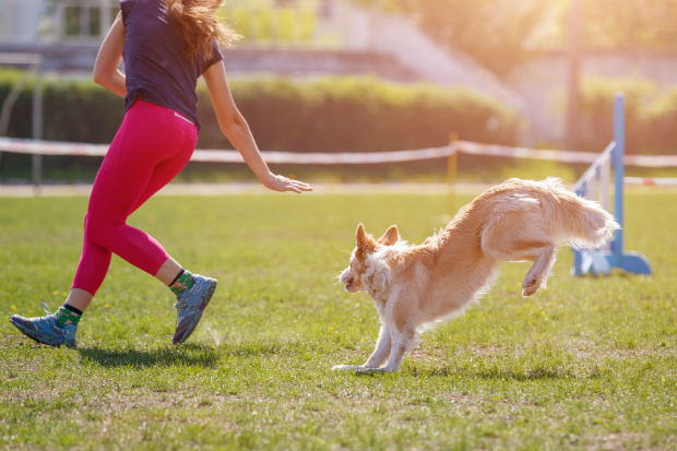
[[[260,147],[288,152],[383,152],[444,145],[449,133],[501,144],[518,142],[519,118],[465,88],[403,85],[365,78],[312,82],[231,82],[238,108]],[[209,96],[200,92],[200,146],[225,147]]]

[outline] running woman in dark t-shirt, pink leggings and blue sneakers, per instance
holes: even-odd
[[[233,102],[218,44],[229,46],[235,36],[215,16],[218,0],[121,0],[120,7],[96,58],[94,81],[124,97],[126,115],[92,189],[73,285],[56,314],[43,302],[46,317],[10,319],[51,346],[75,346],[78,323],[106,276],[111,252],[176,295],[175,344],[195,330],[216,281],[186,271],[153,237],[126,222],[190,159],[200,130],[200,75],[221,130],[261,182],[275,191],[312,189],[270,171]],[[121,60],[126,75],[118,71]]]

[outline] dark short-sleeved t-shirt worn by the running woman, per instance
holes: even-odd
[[[195,122],[198,118],[198,79],[215,62],[223,59],[213,41],[214,51],[205,60],[183,55],[186,48],[169,22],[164,0],[120,0],[124,38],[124,72],[127,75],[127,111],[136,96],[152,104],[174,109]]]

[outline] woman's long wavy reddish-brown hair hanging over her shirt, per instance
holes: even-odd
[[[185,54],[195,58],[202,52],[205,59],[212,58],[212,38],[224,47],[233,47],[240,38],[216,16],[219,0],[165,0],[171,25],[186,43]]]

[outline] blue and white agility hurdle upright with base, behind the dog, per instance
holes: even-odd
[[[609,274],[611,268],[620,268],[634,274],[651,274],[651,265],[644,256],[623,250],[623,155],[626,153],[626,99],[622,93],[614,97],[614,141],[602,152],[573,186],[573,192],[586,199],[596,199],[609,211],[610,167],[614,167],[614,217],[620,224],[608,249],[577,251],[573,249],[573,275]]]

